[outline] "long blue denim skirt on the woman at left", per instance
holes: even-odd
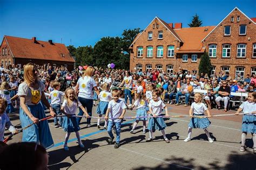
[[[36,105],[27,105],[27,107],[34,117],[38,119],[43,119],[46,117],[41,103]],[[22,128],[33,123],[28,115],[26,115],[26,113],[23,111],[22,107],[19,107],[19,119],[21,120]],[[54,144],[48,121],[40,121],[38,124],[33,124],[32,126],[23,130],[22,141],[37,142],[37,144],[41,144],[46,149],[52,147]]]

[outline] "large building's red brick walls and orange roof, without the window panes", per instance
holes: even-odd
[[[234,17],[234,22],[232,23],[231,16]],[[240,16],[239,22],[237,22],[237,16]],[[239,26],[241,24],[246,24],[245,36],[239,36]],[[256,57],[252,57],[253,44],[256,43],[256,25],[251,19],[240,12],[239,9],[235,8],[230,15],[217,26],[176,29],[172,28],[173,24],[167,25],[169,25],[169,27],[166,26],[164,21],[156,17],[149,26],[134,39],[130,46],[130,70],[134,70],[134,67],[137,67],[137,69],[138,67],[142,67],[144,71],[147,65],[151,65],[152,69],[161,67],[165,72],[167,72],[167,67],[169,67],[169,69],[172,67],[173,71],[178,71],[179,67],[182,67],[184,70],[198,71],[201,55],[203,55],[205,51],[208,52],[208,45],[215,44],[217,45],[217,55],[215,58],[211,58],[211,63],[215,66],[216,72],[219,72],[223,66],[229,66],[230,75],[234,78],[235,69],[238,66],[244,67],[244,75],[247,73],[251,74],[252,71],[254,71],[254,67],[256,71]],[[181,24],[175,25],[181,27]],[[225,25],[231,26],[231,36],[224,36]],[[158,38],[159,31],[163,31],[162,39]],[[148,39],[149,32],[152,32],[152,39]],[[236,57],[237,44],[240,43],[246,44],[245,58]],[[231,44],[230,58],[221,57],[223,50],[222,44]],[[174,46],[173,57],[168,57],[168,46],[170,45]],[[152,46],[153,49],[152,57],[147,57],[149,53],[147,47],[149,46]],[[163,57],[157,57],[158,46],[163,46]],[[140,55],[141,52],[138,53],[140,47],[143,47],[143,55]],[[183,55],[187,55],[187,62],[183,61]],[[194,62],[192,62],[192,55],[197,55],[197,60]],[[184,59],[186,59],[186,56],[184,56]],[[238,70],[241,70],[241,68]]]

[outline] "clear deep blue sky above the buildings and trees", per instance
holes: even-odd
[[[203,26],[217,25],[235,6],[256,17],[256,0],[0,0],[0,37],[37,37],[58,43],[62,39],[67,46],[93,46],[102,37],[122,35],[125,29],[144,29],[155,16],[188,27],[197,13]]]

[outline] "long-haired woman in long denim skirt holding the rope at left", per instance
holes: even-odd
[[[49,108],[52,117],[55,117],[55,112],[45,98],[45,86],[38,79],[38,74],[35,64],[28,63],[24,66],[24,82],[19,85],[17,94],[21,101],[19,119],[22,127],[36,123],[23,131],[22,141],[37,142],[48,149],[53,146],[53,140],[48,121],[39,122],[39,119],[46,117],[41,100]]]

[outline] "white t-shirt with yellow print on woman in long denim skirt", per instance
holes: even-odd
[[[31,90],[26,82],[19,85],[17,95],[19,97],[25,96],[26,105],[36,105],[41,101],[41,95],[44,92],[45,86],[42,81],[38,81],[38,84],[39,87],[35,90]]]

